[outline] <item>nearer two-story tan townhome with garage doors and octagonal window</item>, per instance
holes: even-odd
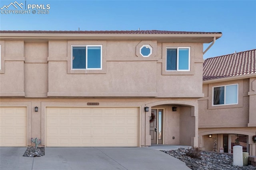
[[[0,146],[197,146],[203,43],[221,36],[0,31]]]

